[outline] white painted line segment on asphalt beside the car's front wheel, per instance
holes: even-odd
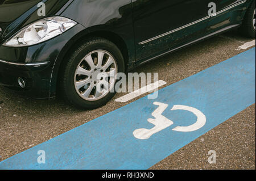
[[[165,81],[156,81],[154,83],[151,83],[150,85],[144,86],[141,89],[135,90],[129,94],[126,94],[118,99],[115,99],[115,102],[121,102],[121,103],[125,103],[131,99],[137,98],[138,96],[145,94],[146,92],[150,92],[150,91],[154,91],[156,89],[158,89],[158,87],[161,87],[163,85],[166,85],[167,82]]]

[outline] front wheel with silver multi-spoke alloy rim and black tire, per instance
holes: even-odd
[[[125,71],[123,56],[118,47],[109,40],[94,37],[83,41],[68,54],[70,55],[65,58],[60,74],[59,91],[63,98],[73,106],[82,109],[98,108],[109,102],[115,95],[113,85],[116,79],[115,77],[113,79],[113,76],[105,78],[109,81],[109,86],[106,86],[109,87],[108,89],[100,85],[98,77],[96,81],[96,75],[102,71],[106,74],[112,71],[115,75]],[[113,63],[106,68],[108,66],[106,64],[112,61]],[[86,82],[86,85],[80,87],[82,81]],[[97,91],[98,87],[104,91],[100,93]],[[89,91],[91,92],[88,93]]]

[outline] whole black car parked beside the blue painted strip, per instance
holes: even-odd
[[[0,0],[0,84],[96,108],[111,73],[232,28],[255,37],[255,0]]]

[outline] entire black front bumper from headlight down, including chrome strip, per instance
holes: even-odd
[[[59,66],[77,33],[84,27],[77,24],[67,32],[30,47],[0,45],[0,85],[32,98],[55,96]],[[18,78],[26,83],[20,87]]]

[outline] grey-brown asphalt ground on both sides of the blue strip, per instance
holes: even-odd
[[[238,47],[252,40],[240,36],[237,31],[230,31],[160,57],[133,72],[159,73],[159,80],[167,82],[163,88],[244,52],[246,49]],[[125,94],[116,94],[101,108],[84,111],[67,105],[59,98],[23,98],[0,87],[0,161],[146,95],[126,103],[115,102]],[[216,151],[216,163],[208,162],[209,150]],[[156,163],[151,169],[255,169],[255,104]]]

